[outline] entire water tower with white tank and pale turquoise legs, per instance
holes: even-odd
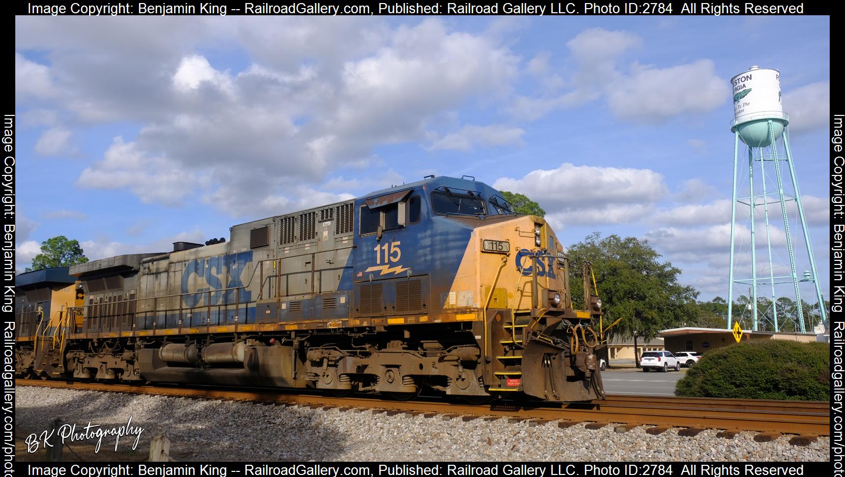
[[[760,323],[780,331],[785,323],[792,322],[795,331],[806,332],[807,322],[812,317],[804,316],[802,289],[805,298],[809,298],[811,304],[816,303],[815,311],[827,326],[804,206],[789,149],[789,118],[781,105],[780,73],[776,69],[753,66],[734,76],[731,86],[734,139],[728,329],[734,321],[739,321],[742,328],[747,329],[750,325],[754,331],[759,329]],[[740,146],[740,142],[744,145]],[[794,246],[793,238],[796,237],[790,230],[790,222],[793,228],[800,225],[805,247]],[[760,225],[763,230],[759,230]],[[761,231],[765,240],[760,240]],[[765,247],[762,247],[763,243]],[[766,253],[760,263],[758,248]],[[771,299],[758,300],[760,291],[771,295]],[[748,298],[739,310],[733,306],[735,295]],[[788,309],[783,309],[783,303],[777,303],[778,298],[792,300],[793,296],[795,305]],[[809,325],[812,329],[815,323],[810,321]]]

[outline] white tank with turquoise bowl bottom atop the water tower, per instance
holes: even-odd
[[[781,73],[777,69],[753,66],[731,79],[733,87],[733,122],[731,131],[739,131],[739,138],[751,147],[770,143],[768,121],[775,138],[783,134],[788,124],[781,105]]]

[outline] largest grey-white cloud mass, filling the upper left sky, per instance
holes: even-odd
[[[428,142],[427,131],[445,133],[434,125],[456,107],[493,108],[510,95],[521,62],[506,39],[441,19],[396,27],[353,18],[16,24],[22,48],[51,52],[49,71],[26,66],[58,83],[49,106],[63,122],[143,125],[85,168],[79,187],[126,188],[144,203],[191,194],[230,211],[264,198],[278,204],[294,197],[292,185],[316,190],[327,173],[372,163],[380,144]],[[150,30],[140,35],[137,24]],[[210,41],[243,48],[253,62],[221,68],[196,52]],[[462,127],[439,146],[518,144],[520,135]],[[46,144],[44,152],[57,149]]]

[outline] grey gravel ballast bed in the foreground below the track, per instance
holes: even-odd
[[[792,446],[789,436],[755,442],[755,432],[733,439],[715,430],[695,437],[678,430],[657,436],[645,427],[617,433],[613,426],[560,429],[556,422],[442,420],[386,415],[371,410],[311,409],[165,396],[20,387],[15,407],[18,436],[44,431],[60,418],[103,428],[141,426],[139,459],[164,434],[183,461],[829,461],[830,439]],[[131,447],[134,437],[120,446]],[[92,441],[93,442],[93,441]],[[105,452],[114,438],[103,438]],[[104,450],[101,450],[103,453]]]

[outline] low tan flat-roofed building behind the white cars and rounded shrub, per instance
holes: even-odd
[[[736,343],[733,332],[724,328],[672,328],[664,329],[657,335],[663,339],[669,351],[698,351],[722,348]],[[804,343],[816,340],[815,333],[775,333],[772,331],[743,330],[742,339],[788,339]]]

